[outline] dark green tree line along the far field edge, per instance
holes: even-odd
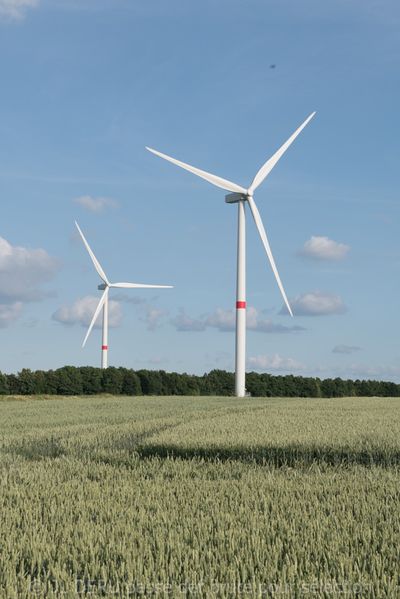
[[[255,397],[400,397],[400,385],[388,381],[249,372],[246,386],[249,395]],[[202,376],[92,366],[0,372],[0,395],[234,395],[234,387],[234,373],[225,370],[211,370]]]

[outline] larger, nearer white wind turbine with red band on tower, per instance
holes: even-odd
[[[180,160],[176,160],[175,158],[171,158],[171,156],[167,156],[166,154],[162,154],[157,150],[153,150],[152,148],[146,147],[147,150],[156,154],[156,156],[160,156],[177,166],[180,166],[191,173],[194,173],[198,177],[205,179],[212,185],[216,187],[221,187],[226,191],[230,191],[232,193],[225,196],[225,201],[228,204],[238,204],[238,239],[237,239],[237,279],[236,279],[236,356],[235,356],[235,394],[238,397],[243,397],[246,393],[245,388],[245,377],[246,377],[246,233],[245,233],[245,204],[246,202],[249,205],[250,212],[253,215],[254,222],[256,224],[257,230],[260,234],[261,241],[264,245],[266,254],[268,256],[269,262],[271,264],[271,268],[275,275],[276,282],[278,283],[278,287],[284,299],[287,309],[291,316],[293,316],[292,310],[290,308],[288,299],[286,297],[285,290],[282,285],[282,281],[280,279],[278,269],[275,265],[275,260],[271,252],[271,247],[269,245],[269,241],[267,238],[267,234],[265,232],[265,228],[263,222],[261,220],[260,213],[258,212],[258,208],[254,202],[253,194],[257,187],[261,185],[264,179],[269,175],[272,171],[278,160],[283,156],[288,147],[293,143],[299,133],[304,129],[304,127],[308,124],[308,122],[312,119],[315,112],[310,114],[310,116],[304,121],[302,125],[289,137],[289,139],[279,148],[277,152],[271,158],[269,158],[265,164],[260,168],[250,186],[242,187],[241,185],[237,185],[236,183],[232,183],[227,179],[222,179],[221,177],[217,177],[211,173],[207,173],[206,171],[200,170],[190,164],[186,164],[185,162],[181,162]]]

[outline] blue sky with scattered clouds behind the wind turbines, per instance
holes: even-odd
[[[400,381],[400,8],[383,0],[0,0],[0,369],[84,350],[100,282],[112,365],[233,369],[236,207],[149,145],[246,186],[248,369]],[[272,68],[272,65],[275,65]]]

